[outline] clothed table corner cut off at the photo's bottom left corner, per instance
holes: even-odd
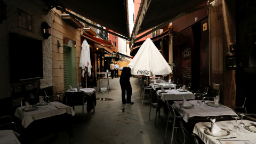
[[[19,135],[17,132],[13,130],[2,130],[0,131],[0,143],[17,143],[20,144]]]

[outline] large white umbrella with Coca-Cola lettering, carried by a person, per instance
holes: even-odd
[[[127,67],[132,75],[169,75],[172,70],[163,55],[150,38],[141,45],[139,51]]]

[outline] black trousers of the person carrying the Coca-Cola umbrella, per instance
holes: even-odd
[[[122,102],[124,103],[131,103],[132,97],[132,86],[130,82],[120,82],[121,90],[122,90]],[[126,99],[125,99],[126,95]]]

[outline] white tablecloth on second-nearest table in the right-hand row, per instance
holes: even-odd
[[[174,109],[176,109],[179,112],[179,114],[182,116],[185,122],[188,122],[189,117],[193,117],[193,116],[205,117],[205,116],[237,115],[234,110],[226,106],[220,106],[216,108],[216,107],[201,105],[201,107],[196,107],[197,100],[190,100],[189,102],[193,104],[195,108],[191,108],[191,109],[181,108],[176,103],[173,103],[172,105]],[[207,103],[207,102],[213,102],[213,101],[205,101],[205,102]]]

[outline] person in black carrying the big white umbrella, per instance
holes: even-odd
[[[122,71],[120,80],[119,80],[121,85],[121,90],[122,90],[122,102],[123,104],[129,103],[130,105],[132,105],[134,102],[131,101],[131,97],[132,97],[132,86],[130,82],[131,68],[123,67],[123,68],[119,68],[119,70]],[[126,94],[126,99],[125,99],[125,94]]]

